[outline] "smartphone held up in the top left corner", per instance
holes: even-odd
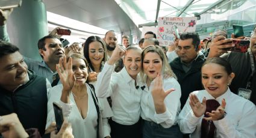
[[[22,4],[22,0],[1,0],[0,1],[0,9],[6,10],[10,8],[20,7]]]

